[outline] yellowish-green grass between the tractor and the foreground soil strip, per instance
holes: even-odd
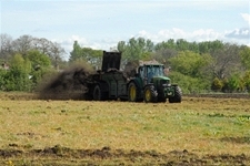
[[[158,152],[250,156],[249,100],[192,98],[181,104],[0,101],[0,148]]]

